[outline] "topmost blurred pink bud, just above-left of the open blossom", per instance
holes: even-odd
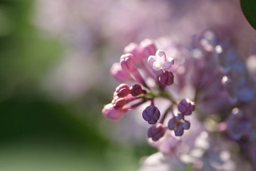
[[[156,53],[155,43],[151,39],[141,41],[139,47],[141,48],[141,53],[144,58],[148,58],[148,56],[155,55]]]

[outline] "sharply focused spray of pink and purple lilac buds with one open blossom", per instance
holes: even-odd
[[[189,99],[176,102],[166,86],[174,84],[174,73],[170,71],[174,65],[174,59],[169,57],[163,50],[157,49],[153,40],[146,39],[140,44],[130,43],[127,45],[120,57],[119,63],[112,65],[110,73],[121,82],[134,82],[133,86],[125,83],[115,89],[112,103],[104,106],[102,114],[110,120],[118,120],[129,111],[135,109],[145,102],[150,105],[142,112],[142,118],[151,124],[147,136],[153,141],[158,141],[166,134],[167,130],[174,130],[176,136],[183,135],[188,130],[190,123],[184,116],[192,114],[195,110],[195,103]],[[149,67],[148,67],[149,66]],[[143,73],[143,74],[142,74]],[[154,80],[154,84],[148,84],[148,79]],[[155,98],[166,98],[171,105],[161,115],[158,107],[155,106]],[[174,115],[174,107],[180,114]],[[164,125],[168,114],[173,118]]]

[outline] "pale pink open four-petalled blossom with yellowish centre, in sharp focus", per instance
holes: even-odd
[[[163,74],[168,68],[174,65],[174,59],[167,57],[166,53],[160,49],[156,51],[155,56],[149,56],[147,62],[156,75]]]

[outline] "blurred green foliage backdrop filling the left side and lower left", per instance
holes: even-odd
[[[102,136],[97,120],[111,97],[92,89],[57,103],[40,89],[64,47],[33,26],[33,4],[0,1],[0,170],[137,170],[156,150]]]

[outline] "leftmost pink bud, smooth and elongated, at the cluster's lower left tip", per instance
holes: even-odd
[[[101,112],[104,116],[106,116],[106,118],[110,120],[119,120],[125,114],[125,111],[123,111],[122,109],[114,109],[112,103],[104,106]]]

